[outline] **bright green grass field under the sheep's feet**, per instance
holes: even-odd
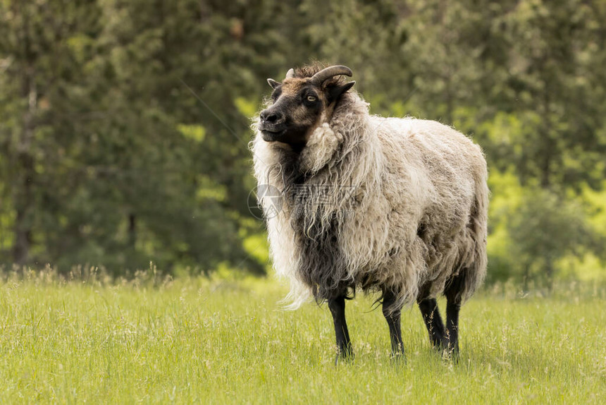
[[[51,274],[0,282],[0,403],[562,403],[606,401],[606,291],[512,287],[464,306],[461,358],[402,316],[407,362],[390,360],[373,297],[347,303],[356,358],[333,364],[328,308],[280,308],[271,280],[111,284]],[[442,303],[443,304],[443,303]]]

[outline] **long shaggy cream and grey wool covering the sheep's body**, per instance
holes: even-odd
[[[489,192],[486,160],[469,138],[435,121],[371,116],[356,92],[322,117],[300,155],[265,142],[258,123],[254,175],[283,193],[282,210],[266,217],[291,308],[356,287],[410,304],[441,294],[460,272],[464,301],[481,284]]]

